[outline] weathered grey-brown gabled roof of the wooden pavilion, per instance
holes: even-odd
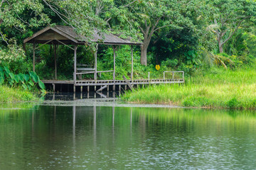
[[[31,37],[23,40],[23,43],[43,44],[50,40],[53,41],[49,43],[60,44],[60,42],[63,42],[68,45],[82,45],[88,42],[88,38],[83,35],[78,35],[78,33],[76,33],[75,30],[70,26],[48,26],[42,30],[39,30]],[[97,32],[97,30],[94,30],[91,42],[108,45],[142,45],[142,42],[132,42],[131,40],[119,38],[117,35],[113,34],[100,34]]]

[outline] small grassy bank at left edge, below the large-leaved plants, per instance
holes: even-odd
[[[36,99],[36,96],[30,91],[0,86],[0,103],[33,101]]]

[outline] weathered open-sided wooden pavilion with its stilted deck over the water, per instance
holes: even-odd
[[[33,44],[33,71],[35,72],[35,64],[36,64],[36,52],[35,50],[41,47],[42,45],[53,45],[54,51],[54,62],[55,62],[55,80],[43,80],[45,84],[53,84],[53,91],[55,91],[55,84],[73,84],[74,92],[75,86],[87,86],[87,91],[89,91],[89,86],[100,86],[100,89],[107,88],[109,90],[109,86],[113,87],[113,91],[115,91],[116,86],[119,86],[121,89],[121,85],[129,85],[129,84],[160,84],[160,83],[183,83],[184,79],[174,79],[174,72],[173,79],[161,79],[161,80],[134,80],[133,79],[133,45],[142,45],[142,42],[132,42],[128,39],[119,38],[117,35],[113,34],[106,34],[106,33],[99,33],[97,30],[94,30],[92,35],[92,39],[90,42],[96,43],[96,50],[95,50],[95,65],[93,68],[85,67],[85,64],[78,64],[77,63],[77,49],[78,45],[86,45],[88,43],[88,39],[83,35],[78,35],[75,30],[70,26],[48,26],[39,30],[37,33],[33,34],[31,37],[26,38],[23,40],[23,43],[32,43]],[[41,44],[41,45],[39,45]],[[97,46],[98,44],[105,44],[105,45],[113,45],[114,50],[114,68],[113,70],[108,71],[98,71],[97,70]],[[36,47],[36,45],[39,45]],[[57,45],[65,45],[70,49],[74,50],[74,72],[73,72],[73,81],[60,81],[57,79]],[[73,45],[73,47],[71,46]],[[132,72],[131,72],[131,79],[130,80],[116,80],[115,79],[115,58],[116,58],[116,46],[117,45],[131,45],[131,55],[132,55]],[[113,72],[113,80],[97,80],[97,74],[101,74],[102,72]],[[77,79],[81,77],[82,74],[94,74],[94,80],[82,80]]]

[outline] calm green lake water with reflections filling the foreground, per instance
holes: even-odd
[[[0,169],[256,169],[252,111],[0,109]]]

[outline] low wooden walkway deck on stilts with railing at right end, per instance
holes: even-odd
[[[55,91],[55,84],[70,84],[74,86],[74,92],[75,87],[80,86],[81,91],[82,87],[87,88],[87,91],[90,91],[90,87],[94,86],[94,91],[96,89],[107,89],[107,91],[110,91],[110,86],[112,86],[113,91],[116,89],[119,89],[121,91],[121,87],[124,90],[127,90],[127,86],[139,86],[139,85],[150,85],[150,84],[183,84],[185,83],[184,80],[184,73],[182,73],[181,79],[174,79],[174,72],[173,73],[173,79],[134,79],[134,80],[76,80],[76,81],[63,81],[63,80],[42,80],[44,84],[52,84],[53,85],[53,91]],[[164,75],[165,77],[165,75]],[[103,87],[103,88],[102,88]]]

